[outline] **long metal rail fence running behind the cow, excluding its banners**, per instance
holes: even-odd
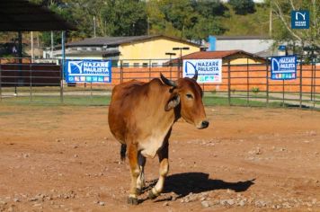
[[[316,56],[318,57],[318,56]],[[233,58],[235,59],[235,58]],[[245,61],[245,58],[242,58]],[[320,64],[298,63],[297,79],[271,80],[265,63],[234,64],[224,59],[222,83],[200,84],[207,105],[297,106],[320,109]],[[300,61],[302,61],[300,59]],[[0,58],[1,102],[108,104],[114,85],[132,79],[148,82],[160,73],[176,80],[181,64],[164,59],[112,61],[111,83],[67,84],[60,59]]]

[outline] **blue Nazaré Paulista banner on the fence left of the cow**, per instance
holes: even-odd
[[[111,61],[67,60],[65,74],[67,83],[111,83]]]

